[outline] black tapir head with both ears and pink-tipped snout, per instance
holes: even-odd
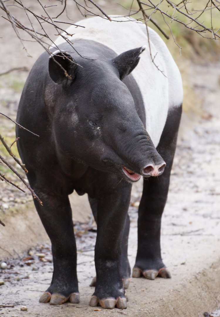
[[[53,92],[49,111],[58,151],[131,181],[164,171],[166,164],[122,81],[138,65],[144,49],[131,49],[113,59],[80,59],[80,65],[63,51],[49,58],[53,82],[48,81],[47,91]]]

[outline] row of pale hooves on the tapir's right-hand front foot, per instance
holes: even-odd
[[[115,305],[117,308],[127,308],[127,300],[125,297],[118,297],[117,299],[110,297],[99,301],[98,297],[93,295],[90,300],[89,306],[95,307],[98,306],[98,304],[100,304],[102,308],[107,309],[113,309]]]

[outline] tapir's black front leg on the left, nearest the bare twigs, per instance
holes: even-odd
[[[51,181],[53,184],[53,181]],[[40,302],[51,305],[66,301],[79,302],[76,274],[76,243],[72,221],[72,211],[68,196],[59,194],[57,188],[47,190],[31,184],[43,206],[36,199],[36,209],[52,243],[54,262],[53,278],[49,288],[42,294]]]

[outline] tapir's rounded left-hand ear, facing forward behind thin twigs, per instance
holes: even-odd
[[[49,75],[57,84],[69,85],[75,78],[77,64],[64,51],[56,51],[49,57]]]

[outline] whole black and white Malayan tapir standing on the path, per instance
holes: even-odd
[[[117,22],[124,21],[124,22]],[[170,278],[161,258],[164,210],[183,89],[159,35],[128,18],[93,17],[71,26],[33,66],[21,96],[18,150],[52,243],[54,272],[40,302],[79,302],[68,195],[88,194],[97,223],[96,282],[90,306],[126,308],[132,183],[143,176],[133,277]],[[157,67],[156,67],[156,66]],[[74,210],[73,210],[74,212]],[[123,285],[124,284],[124,285]]]

